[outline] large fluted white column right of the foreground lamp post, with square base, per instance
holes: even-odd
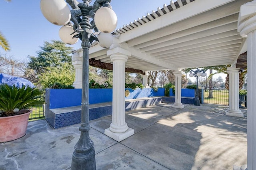
[[[130,56],[130,51],[116,47],[107,51],[113,62],[113,102],[112,123],[105,129],[105,134],[120,142],[134,134],[134,130],[125,122],[125,62]]]

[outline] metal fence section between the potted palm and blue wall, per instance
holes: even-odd
[[[42,95],[40,96],[40,101],[44,101],[42,105],[35,105],[32,106],[30,109],[32,110],[32,113],[29,115],[29,120],[36,120],[36,119],[42,119],[45,117],[45,90],[43,91]]]

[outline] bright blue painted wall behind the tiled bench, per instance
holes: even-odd
[[[81,105],[82,89],[49,89],[50,109],[72,107]],[[164,96],[164,88],[158,88],[154,92],[152,88],[129,89],[130,95],[125,99],[137,99],[142,97]],[[47,93],[48,94],[48,93]],[[182,89],[182,97],[194,97],[194,89]],[[174,96],[170,89],[170,96]],[[89,89],[89,103],[104,103],[112,101],[112,89]]]

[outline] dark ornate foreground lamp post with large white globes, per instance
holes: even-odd
[[[96,170],[95,151],[89,136],[89,48],[94,40],[101,42],[104,47],[110,46],[112,36],[106,34],[113,32],[117,25],[116,14],[110,6],[111,0],[95,0],[90,6],[91,1],[83,0],[83,3],[78,3],[76,0],[66,0],[72,10],[64,0],[40,2],[41,11],[48,21],[52,24],[64,25],[59,32],[64,43],[76,43],[78,38],[82,40],[82,103],[79,127],[81,134],[74,146],[71,170]],[[74,23],[73,26],[70,21]],[[103,32],[100,36],[102,40],[97,38],[100,32]]]

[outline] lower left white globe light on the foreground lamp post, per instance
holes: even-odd
[[[62,42],[66,44],[75,44],[78,42],[78,38],[72,38],[74,35],[70,35],[74,32],[73,27],[69,25],[62,26],[59,30],[59,36]]]

